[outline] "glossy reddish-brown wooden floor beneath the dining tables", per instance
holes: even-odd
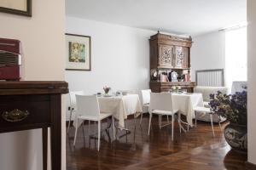
[[[164,123],[163,118],[163,123]],[[148,136],[148,116],[136,128],[131,118],[127,122],[131,133],[113,140],[113,133],[104,132],[101,150],[96,150],[97,139],[88,137],[88,125],[79,128],[77,144],[73,147],[74,128],[67,135],[67,170],[219,170],[246,169],[247,155],[230,150],[218,124],[212,137],[210,123],[199,122],[189,133],[179,133],[177,124],[174,141],[170,126],[159,129],[158,117],[153,118],[153,129]],[[225,124],[225,123],[224,123]],[[223,126],[224,126],[223,124]],[[106,127],[107,123],[103,123]],[[93,126],[90,125],[91,132]],[[124,132],[119,132],[122,135]]]

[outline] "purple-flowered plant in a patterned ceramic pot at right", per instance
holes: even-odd
[[[232,149],[247,151],[247,91],[236,94],[210,94],[211,111],[225,117],[230,124],[224,128],[224,138]]]

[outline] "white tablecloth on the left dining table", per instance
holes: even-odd
[[[98,101],[100,111],[102,113],[113,113],[113,116],[119,120],[119,127],[125,127],[125,119],[128,115],[136,114],[136,116],[139,116],[143,111],[138,94],[99,97]],[[73,124],[75,125],[76,123],[74,122]],[[81,122],[78,122],[78,124],[80,125]]]

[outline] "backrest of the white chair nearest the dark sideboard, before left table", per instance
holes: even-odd
[[[100,107],[96,95],[78,95],[76,94],[77,111],[79,116],[100,116]]]

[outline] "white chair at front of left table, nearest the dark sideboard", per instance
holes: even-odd
[[[78,122],[79,120],[88,120],[98,122],[98,151],[100,150],[101,141],[101,121],[102,119],[112,116],[112,127],[113,127],[113,139],[115,139],[115,127],[113,113],[101,113],[100,106],[96,95],[78,95],[76,94],[77,101],[77,120],[76,130],[73,145],[76,143],[78,133]]]

